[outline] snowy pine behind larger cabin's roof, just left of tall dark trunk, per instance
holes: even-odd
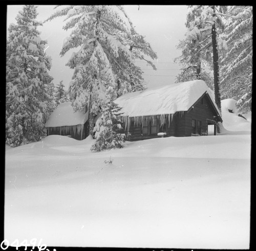
[[[177,49],[182,55],[175,62],[182,65],[176,82],[201,79],[213,88],[213,78],[208,69],[211,59],[210,28],[203,18],[202,6],[188,6],[186,38],[179,41]]]

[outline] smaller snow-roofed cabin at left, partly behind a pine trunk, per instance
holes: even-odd
[[[88,112],[74,111],[71,102],[58,105],[46,122],[47,135],[70,136],[76,140],[86,138]]]

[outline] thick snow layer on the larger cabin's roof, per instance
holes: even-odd
[[[205,92],[220,113],[211,90],[202,80],[168,84],[128,93],[116,99],[115,102],[122,107],[121,112],[124,116],[174,114],[176,111],[187,111]]]

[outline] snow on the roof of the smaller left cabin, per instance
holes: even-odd
[[[88,112],[74,111],[71,102],[65,102],[50,115],[46,122],[46,127],[73,126],[84,124],[88,120]]]

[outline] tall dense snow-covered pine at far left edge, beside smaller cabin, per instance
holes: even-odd
[[[6,144],[19,146],[45,135],[51,58],[45,54],[34,5],[26,5],[9,26],[6,58]]]

